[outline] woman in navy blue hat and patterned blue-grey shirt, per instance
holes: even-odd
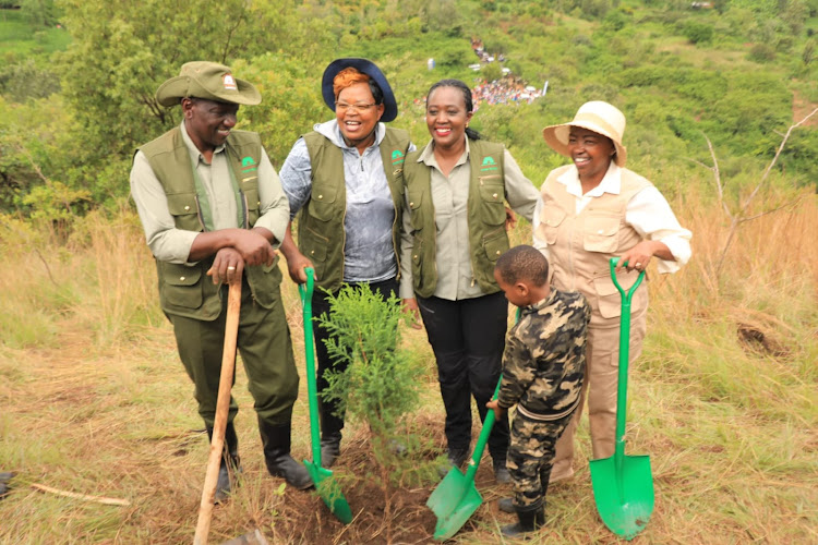
[[[324,71],[322,94],[335,119],[318,123],[292,146],[279,177],[299,214],[298,246],[287,230],[281,253],[294,282],[315,269],[315,316],[329,311],[328,294],[342,284],[366,283],[387,299],[397,293],[401,223],[400,172],[413,150],[407,131],[384,123],[398,114],[395,95],[381,70],[366,59],[337,59]],[[328,332],[313,324],[318,392],[324,372],[341,370],[329,358]],[[344,415],[337,404],[321,403],[321,460],[330,467],[340,453]]]

